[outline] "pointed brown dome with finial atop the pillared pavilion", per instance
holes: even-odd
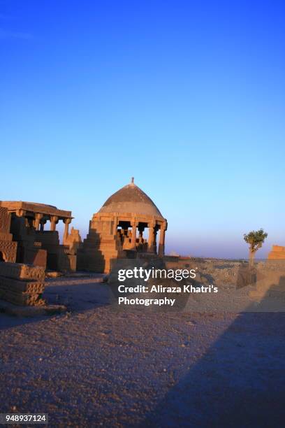
[[[152,199],[142,192],[133,181],[112,194],[105,201],[99,213],[134,213],[163,218]]]

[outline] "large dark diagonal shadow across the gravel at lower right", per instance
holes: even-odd
[[[254,311],[237,316],[141,427],[285,426],[285,313]]]

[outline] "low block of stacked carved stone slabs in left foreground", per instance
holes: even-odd
[[[45,269],[20,263],[0,264],[0,299],[21,306],[43,306]]]

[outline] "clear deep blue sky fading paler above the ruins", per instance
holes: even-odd
[[[71,210],[85,236],[135,183],[166,250],[285,245],[284,1],[0,0],[0,199]]]

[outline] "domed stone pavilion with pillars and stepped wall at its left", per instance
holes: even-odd
[[[163,256],[166,229],[167,220],[132,179],[93,215],[89,234],[78,248],[78,270],[108,273],[113,259],[139,252]]]

